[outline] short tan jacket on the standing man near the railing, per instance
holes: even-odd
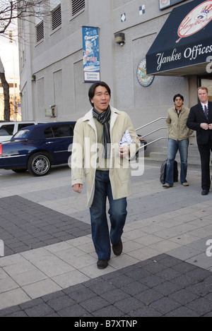
[[[184,140],[189,138],[189,136],[194,132],[187,127],[189,112],[189,108],[183,106],[178,117],[175,107],[168,109],[166,120],[168,138],[172,138],[174,140]]]

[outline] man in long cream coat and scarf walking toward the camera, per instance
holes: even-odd
[[[74,128],[71,157],[72,187],[83,189],[86,176],[92,239],[98,254],[98,268],[107,267],[112,250],[122,253],[122,233],[126,221],[126,197],[131,194],[129,159],[136,155],[140,140],[125,112],[110,107],[110,88],[104,82],[91,85],[90,109]],[[129,145],[119,146],[129,132]],[[110,203],[109,232],[106,199]]]

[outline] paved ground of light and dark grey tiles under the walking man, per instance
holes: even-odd
[[[0,316],[212,316],[212,192],[201,172],[163,188],[160,168],[132,176],[122,241],[104,270],[90,236],[86,184],[0,170]]]

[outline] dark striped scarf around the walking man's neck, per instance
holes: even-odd
[[[97,119],[100,124],[103,126],[103,137],[102,137],[102,142],[104,145],[104,150],[105,150],[105,159],[107,159],[107,155],[110,157],[110,150],[107,150],[109,147],[108,144],[111,143],[110,141],[110,115],[111,115],[111,110],[110,106],[105,110],[105,112],[98,112],[95,108],[93,108],[93,117]]]

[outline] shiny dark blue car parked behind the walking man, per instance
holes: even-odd
[[[46,175],[54,164],[66,164],[71,155],[76,122],[27,126],[0,144],[0,169]]]

